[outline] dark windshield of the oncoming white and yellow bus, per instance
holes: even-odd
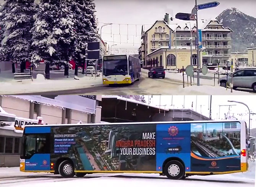
[[[127,75],[128,63],[127,60],[104,60],[103,75]]]

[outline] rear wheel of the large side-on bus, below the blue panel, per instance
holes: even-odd
[[[179,161],[172,160],[165,164],[164,174],[169,179],[183,179],[183,177],[185,176],[185,169],[183,164],[181,164]]]

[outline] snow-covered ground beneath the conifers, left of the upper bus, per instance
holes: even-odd
[[[33,81],[31,79],[15,80],[10,71],[2,71],[0,73],[0,95],[20,94],[31,92],[46,92],[58,90],[80,89],[95,85],[102,85],[102,77],[92,77],[79,73],[79,80],[74,79],[74,71],[70,71],[69,77],[65,77],[62,71],[51,71],[50,80],[44,79],[43,71],[33,72]]]

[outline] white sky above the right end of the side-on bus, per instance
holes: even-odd
[[[148,102],[148,98],[151,98],[151,95],[148,97],[145,95],[145,100]],[[213,95],[212,96],[212,119],[225,119],[225,113],[228,112],[228,106],[220,106],[219,105],[236,105],[230,107],[230,116],[235,116],[237,119],[245,120],[247,124],[249,124],[249,115],[248,109],[245,105],[239,103],[230,103],[228,100],[234,100],[238,102],[243,102],[251,110],[251,113],[256,113],[256,105],[255,105],[255,95]],[[193,110],[197,111],[204,116],[209,117],[209,95],[198,95],[197,96],[197,107],[196,107],[196,96],[195,95],[186,95],[185,96],[185,109],[192,109],[193,102]],[[151,104],[159,106],[160,96],[153,96],[151,99]],[[161,107],[164,108],[183,108],[184,105],[184,95],[162,95],[161,96]],[[202,105],[202,106],[200,106]],[[220,108],[220,116],[219,116],[219,108]],[[251,115],[251,128],[256,128],[256,115]]]

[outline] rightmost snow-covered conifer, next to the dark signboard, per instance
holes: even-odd
[[[71,12],[74,15],[74,27],[77,34],[74,46],[74,59],[76,61],[75,74],[77,75],[78,65],[84,67],[86,42],[95,42],[97,40],[94,0],[72,1]]]

